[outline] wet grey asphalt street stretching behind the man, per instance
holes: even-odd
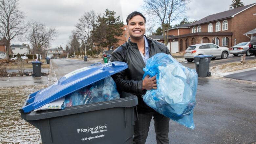
[[[75,69],[94,64],[68,59],[54,59],[52,63],[58,79]],[[199,78],[197,105],[194,110],[195,129],[185,128],[171,120],[170,143],[255,142],[255,92],[256,85]],[[146,143],[156,144],[153,119]]]

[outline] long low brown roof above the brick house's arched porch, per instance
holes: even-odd
[[[197,36],[197,35],[233,35],[233,32],[196,32],[196,33],[172,36],[172,37],[169,37],[169,39],[188,37],[188,36]]]

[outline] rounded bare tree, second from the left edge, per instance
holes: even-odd
[[[27,40],[31,43],[32,47],[38,51],[38,60],[40,61],[39,51],[43,47],[48,47],[50,42],[57,36],[55,28],[46,28],[45,24],[33,21],[30,24],[31,29],[27,35]]]

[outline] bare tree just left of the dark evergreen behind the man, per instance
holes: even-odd
[[[84,15],[78,19],[78,23],[75,25],[75,34],[77,38],[85,43],[85,47],[91,49],[92,57],[94,58],[94,36],[91,34],[96,29],[96,12],[91,10],[85,12]]]

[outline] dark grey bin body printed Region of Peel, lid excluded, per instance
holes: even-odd
[[[21,117],[40,130],[43,144],[132,144],[138,100],[130,93],[121,97],[60,111],[21,112]]]

